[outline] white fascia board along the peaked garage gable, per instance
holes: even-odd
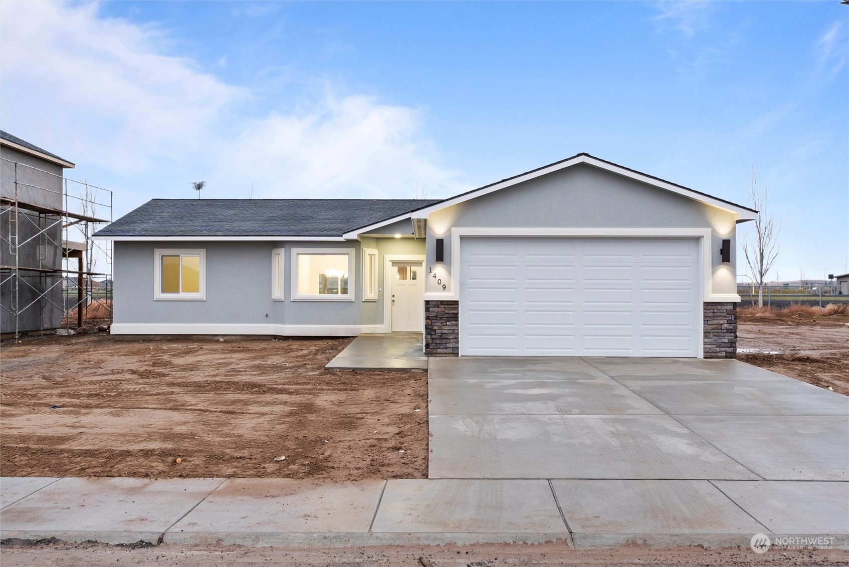
[[[587,164],[588,166],[598,167],[599,169],[610,171],[611,173],[616,173],[616,175],[621,175],[622,177],[629,177],[638,182],[643,182],[648,185],[652,185],[656,188],[666,189],[666,191],[671,191],[672,193],[683,195],[684,197],[689,197],[689,199],[694,199],[701,203],[705,203],[706,205],[715,206],[718,209],[722,209],[723,211],[732,212],[734,214],[739,215],[739,221],[752,221],[757,218],[757,213],[748,211],[743,207],[725,203],[719,199],[714,199],[712,197],[708,197],[707,195],[696,193],[691,189],[678,187],[678,185],[674,185],[670,182],[661,181],[659,179],[655,179],[654,177],[649,177],[642,173],[638,173],[637,171],[631,171],[624,167],[615,166],[605,161],[597,160],[588,155],[578,155],[572,158],[571,160],[565,160],[563,162],[555,164],[554,166],[548,166],[537,171],[531,171],[530,173],[526,173],[525,175],[522,175],[520,177],[514,177],[513,179],[509,179],[507,181],[495,183],[494,185],[478,189],[477,191],[473,191],[469,194],[458,195],[453,199],[448,199],[446,201],[442,201],[441,203],[430,205],[429,207],[425,207],[424,209],[419,209],[419,211],[413,211],[413,218],[427,218],[431,212],[439,211],[440,209],[444,209],[452,205],[458,205],[458,203],[463,203],[470,199],[481,197],[482,195],[494,193],[495,191],[499,191],[503,188],[513,187],[514,185],[518,185],[519,183],[524,183],[526,181],[530,181],[531,179],[536,179],[537,177],[543,177],[544,175],[548,175],[549,173],[554,173],[554,171],[560,171],[567,167],[576,166],[578,164]]]

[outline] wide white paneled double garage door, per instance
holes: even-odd
[[[479,237],[460,250],[460,355],[699,355],[696,239]]]

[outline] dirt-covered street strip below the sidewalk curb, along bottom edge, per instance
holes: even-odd
[[[572,549],[565,543],[483,544],[470,546],[374,546],[329,549],[281,549],[277,547],[183,547],[170,544],[142,549],[104,546],[98,543],[48,545],[27,543],[21,547],[3,546],[3,565],[95,565],[168,564],[182,567],[206,565],[288,565],[290,567],[402,566],[461,567],[467,564],[487,567],[514,565],[560,565],[567,567],[612,567],[614,565],[846,565],[849,552],[839,549],[782,549],[773,547],[759,555],[749,547],[705,549],[673,547],[653,549],[631,545],[612,549]],[[422,559],[419,559],[422,558]]]

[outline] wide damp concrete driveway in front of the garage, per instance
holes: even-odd
[[[431,479],[849,480],[849,398],[735,360],[431,358]]]

